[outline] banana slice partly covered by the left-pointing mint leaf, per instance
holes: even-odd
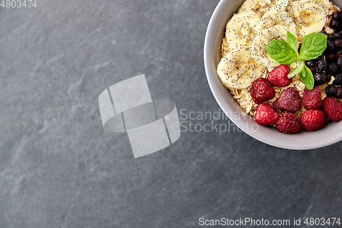
[[[252,55],[252,58],[259,64],[267,68],[274,68],[276,66],[279,66],[278,62],[272,60],[272,58],[269,56],[269,54],[265,50],[265,46],[268,45],[269,42],[271,42],[272,40],[286,41],[287,31],[293,34],[293,32],[289,28],[281,25],[276,25],[262,31],[260,35],[254,38],[253,44],[250,47],[250,55]]]

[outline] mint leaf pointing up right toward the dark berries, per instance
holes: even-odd
[[[314,60],[326,49],[326,40],[328,36],[325,34],[317,34],[313,32],[304,36],[302,47],[300,48],[300,58],[302,60]]]

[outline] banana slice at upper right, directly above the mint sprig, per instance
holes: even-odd
[[[287,6],[287,14],[293,19],[298,40],[313,32],[319,32],[326,24],[326,12],[315,1],[293,1]]]

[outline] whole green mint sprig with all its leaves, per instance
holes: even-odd
[[[315,32],[304,36],[300,53],[298,53],[299,42],[291,32],[287,31],[287,41],[272,40],[265,46],[265,49],[269,56],[279,64],[289,65],[298,61],[299,66],[292,69],[287,77],[291,78],[300,75],[302,83],[308,90],[312,90],[314,84],[313,73],[305,66],[303,60],[314,60],[319,57],[326,49],[327,39],[328,36]]]

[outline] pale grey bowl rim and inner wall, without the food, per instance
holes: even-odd
[[[213,11],[213,14],[211,15],[211,18],[209,20],[209,24],[207,26],[207,31],[205,34],[205,42],[204,42],[204,65],[205,65],[205,73],[207,77],[207,81],[209,84],[209,88],[211,89],[211,92],[213,93],[213,97],[215,98],[216,102],[218,102],[218,105],[222,109],[222,112],[228,116],[228,118],[237,126],[239,129],[244,131],[248,136],[255,138],[261,142],[264,142],[265,144],[269,144],[274,147],[282,148],[282,149],[291,149],[291,150],[308,150],[308,149],[318,149],[321,147],[326,147],[331,144],[340,142],[342,140],[342,129],[341,131],[335,130],[332,132],[332,134],[336,133],[339,134],[339,137],[330,137],[328,140],[319,140],[316,137],[312,137],[313,140],[311,140],[311,143],[303,143],[303,144],[291,144],[287,142],[288,140],[285,140],[285,142],[279,142],[278,140],[272,140],[271,138],[265,137],[265,134],[254,134],[252,131],[248,131],[246,127],[244,127],[244,123],[246,121],[241,120],[241,118],[233,118],[231,110],[231,105],[226,102],[224,99],[224,96],[222,92],[220,92],[220,88],[218,87],[218,83],[221,83],[220,78],[218,77],[216,71],[212,71],[213,66],[213,56],[214,56],[214,49],[213,49],[213,40],[215,33],[218,32],[217,24],[220,18],[222,17],[222,14],[226,11],[226,8],[228,7],[227,4],[231,3],[232,0],[220,0],[218,5],[216,5],[215,10]],[[334,2],[334,1],[332,1]],[[226,21],[227,23],[228,21]],[[228,91],[228,89],[227,89]],[[229,92],[230,94],[230,92]],[[241,109],[242,110],[242,109]],[[246,113],[246,112],[245,112]],[[249,115],[249,114],[248,114]],[[342,122],[342,121],[341,121]],[[336,123],[334,123],[336,124]],[[242,127],[241,127],[242,126]],[[261,125],[260,125],[261,126]],[[261,126],[264,127],[264,126]],[[334,128],[336,129],[336,127]],[[321,129],[322,130],[322,129]],[[306,134],[314,134],[314,132],[319,131],[304,131]],[[284,134],[284,138],[295,138],[298,137],[300,134],[294,134],[294,135],[287,135]],[[319,135],[319,134],[318,134]],[[276,143],[277,142],[277,143]]]

